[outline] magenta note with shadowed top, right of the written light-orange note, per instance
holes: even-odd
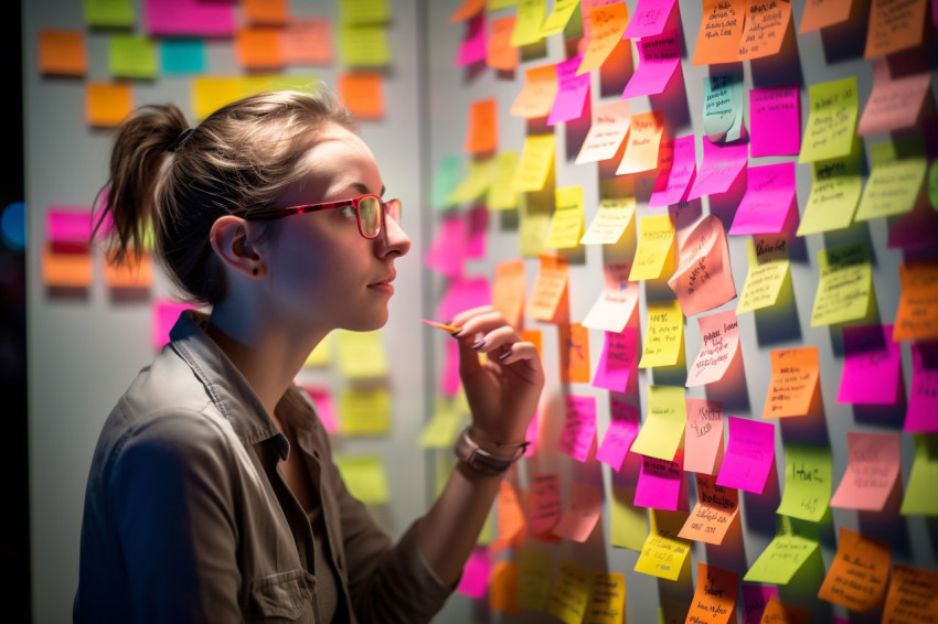
[[[843,327],[843,375],[839,404],[894,405],[902,379],[902,352],[892,325]]]

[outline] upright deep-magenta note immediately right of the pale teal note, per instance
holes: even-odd
[[[749,89],[749,153],[797,154],[801,149],[798,85]]]

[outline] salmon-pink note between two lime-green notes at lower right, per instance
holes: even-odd
[[[846,432],[846,471],[831,507],[882,512],[899,476],[898,433]]]

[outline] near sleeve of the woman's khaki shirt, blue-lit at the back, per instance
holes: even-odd
[[[232,452],[216,426],[172,415],[128,440],[109,491],[134,622],[241,622]]]

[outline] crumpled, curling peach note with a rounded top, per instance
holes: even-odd
[[[706,215],[684,234],[678,258],[668,286],[678,295],[685,316],[713,310],[736,297],[726,233],[716,215]]]

